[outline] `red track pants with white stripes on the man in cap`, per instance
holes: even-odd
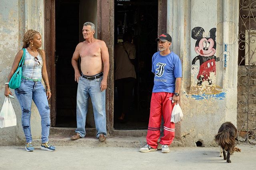
[[[160,137],[162,115],[164,118],[164,136],[161,138],[160,144],[170,145],[174,139],[175,123],[170,122],[173,108],[173,95],[173,93],[167,92],[152,93],[147,133],[147,143],[152,148],[157,148],[157,140]]]

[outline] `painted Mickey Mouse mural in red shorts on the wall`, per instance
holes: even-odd
[[[204,28],[195,27],[191,31],[191,37],[196,41],[195,51],[198,56],[192,60],[191,72],[197,75],[197,85],[201,86],[203,81],[208,81],[209,85],[212,84],[212,77],[210,73],[216,74],[216,61],[220,61],[220,58],[214,56],[216,52],[216,28],[210,30],[210,37],[204,37]],[[200,68],[198,72],[198,65],[196,61],[199,60]]]

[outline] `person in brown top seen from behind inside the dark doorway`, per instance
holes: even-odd
[[[115,46],[115,83],[118,91],[118,101],[121,107],[121,114],[118,118],[125,121],[125,116],[129,114],[129,108],[132,104],[132,94],[136,80],[134,69],[134,60],[136,57],[136,48],[132,42],[132,35],[125,33],[123,42]]]

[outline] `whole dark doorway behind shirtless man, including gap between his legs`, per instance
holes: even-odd
[[[76,127],[76,91],[71,58],[76,45],[83,42],[84,22],[95,23],[97,28],[97,1],[55,0],[56,39],[56,127]],[[96,29],[97,32],[97,29]],[[97,34],[95,34],[97,38]],[[92,106],[89,106],[86,127],[95,127]]]

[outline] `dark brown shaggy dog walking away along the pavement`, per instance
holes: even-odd
[[[234,152],[236,136],[236,127],[230,122],[223,123],[219,128],[218,134],[214,136],[214,140],[218,142],[223,150],[224,160],[227,160],[228,163],[231,162],[230,153]],[[228,156],[226,156],[225,150],[228,152]]]

